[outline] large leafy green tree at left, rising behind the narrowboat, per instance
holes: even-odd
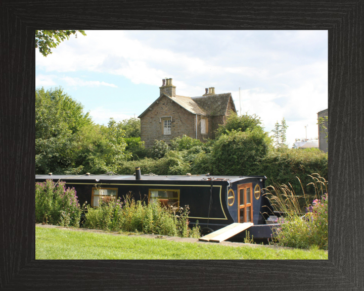
[[[35,90],[35,172],[77,173],[79,131],[93,124],[62,87]]]

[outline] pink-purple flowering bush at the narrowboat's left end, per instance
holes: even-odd
[[[35,184],[35,222],[61,226],[79,226],[81,209],[74,188],[66,182],[49,179]]]

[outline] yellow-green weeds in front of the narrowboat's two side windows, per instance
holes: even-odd
[[[154,233],[160,235],[200,237],[200,228],[189,228],[189,208],[146,205],[128,195],[123,202],[101,202],[98,208],[87,206],[84,226],[93,229]]]

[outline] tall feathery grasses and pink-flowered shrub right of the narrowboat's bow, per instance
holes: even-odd
[[[315,176],[313,176],[315,175]],[[280,226],[274,229],[274,240],[278,245],[293,248],[318,247],[328,249],[328,191],[327,181],[318,174],[309,175],[314,182],[316,195],[312,205],[303,191],[306,200],[306,214],[301,216],[301,208],[292,187],[287,185],[268,186],[267,197],[279,211],[286,212],[278,219]],[[302,188],[303,189],[303,188]]]

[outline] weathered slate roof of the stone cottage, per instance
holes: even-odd
[[[163,93],[141,115],[139,115],[138,118],[143,117],[148,112],[148,109],[153,107],[155,103],[163,96],[166,96],[193,114],[210,116],[225,115],[226,110],[228,109],[229,100],[232,98],[231,93],[212,94],[198,97],[187,97],[180,95],[171,97]],[[233,106],[234,111],[236,112],[234,102]]]

